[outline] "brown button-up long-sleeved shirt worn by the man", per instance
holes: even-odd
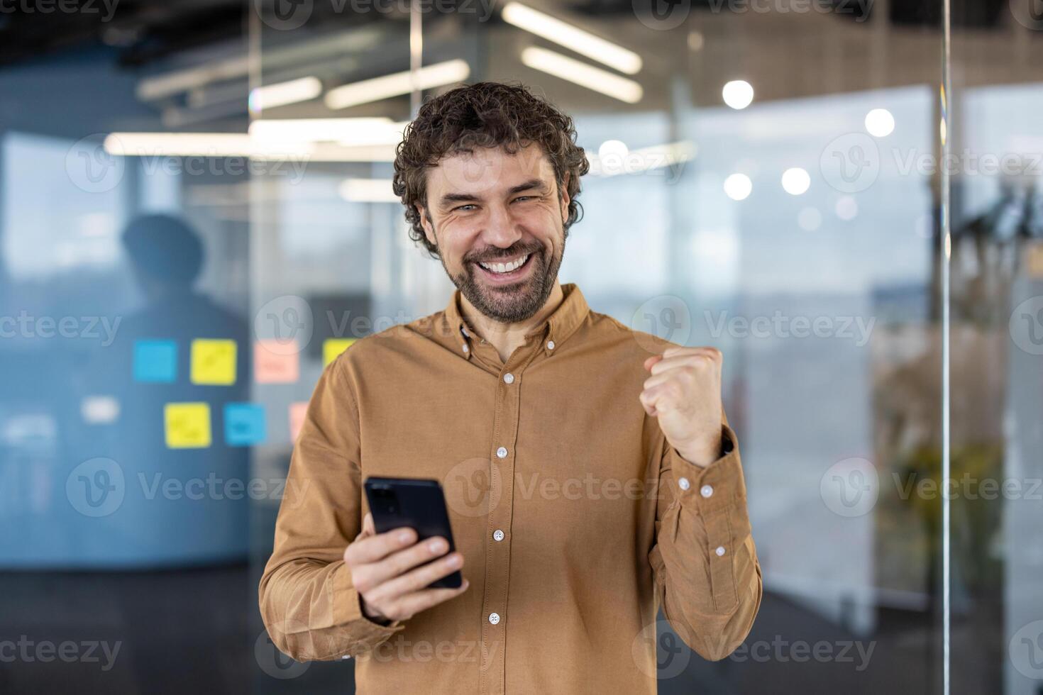
[[[356,659],[360,693],[654,693],[656,613],[706,659],[760,605],[735,435],[700,468],[638,400],[672,343],[579,288],[506,364],[448,306],[356,342],[323,372],[261,579],[275,646]],[[441,481],[470,587],[383,626],[344,548],[371,475]]]

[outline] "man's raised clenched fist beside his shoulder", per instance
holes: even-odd
[[[721,453],[723,359],[712,347],[671,347],[645,361],[652,376],[645,380],[641,405],[671,446],[697,466]]]

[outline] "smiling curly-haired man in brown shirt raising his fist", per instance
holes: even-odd
[[[587,168],[572,120],[520,86],[456,89],[411,123],[395,193],[457,290],[316,386],[261,579],[282,651],[355,656],[361,693],[629,695],[656,691],[658,609],[705,659],[749,634],[760,567],[721,353],[560,284]],[[456,551],[375,533],[369,476],[440,480]]]

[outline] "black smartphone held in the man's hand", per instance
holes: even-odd
[[[442,494],[438,480],[371,477],[366,478],[364,487],[378,533],[409,526],[416,531],[418,543],[440,536],[450,544],[445,554],[456,549],[450,515],[445,511],[445,495]],[[463,577],[457,570],[441,579],[435,579],[428,588],[458,589],[462,584]]]

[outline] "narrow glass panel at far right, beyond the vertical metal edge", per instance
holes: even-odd
[[[1043,14],[995,9],[952,18],[952,692],[1029,695],[1043,682]]]

